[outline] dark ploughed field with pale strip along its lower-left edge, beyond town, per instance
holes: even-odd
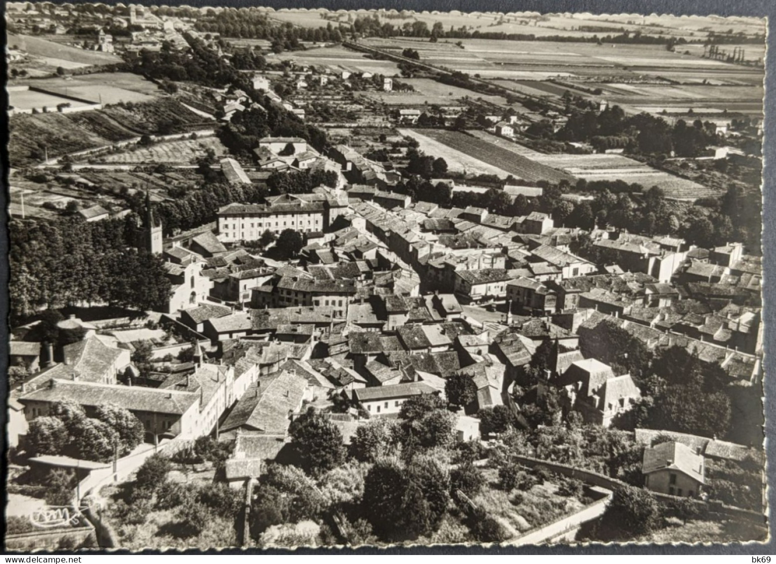
[[[416,137],[417,133],[414,130],[405,130],[410,137]],[[519,154],[509,151],[505,147],[499,147],[486,140],[482,140],[477,137],[471,137],[466,133],[459,131],[448,130],[422,130],[423,137],[431,138],[442,146],[449,147],[453,151],[459,154],[474,157],[484,164],[490,165],[490,167],[497,168],[504,171],[504,176],[512,175],[515,178],[521,178],[523,180],[548,180],[550,182],[559,182],[560,180],[573,181],[571,175],[566,172],[550,168],[544,164],[540,164],[532,160],[532,158],[523,157]],[[418,139],[418,141],[421,141]],[[448,161],[449,166],[452,166],[449,158],[442,154],[434,152],[434,148],[429,147],[424,149],[421,141],[421,149],[427,154],[432,154],[435,157],[441,156]]]

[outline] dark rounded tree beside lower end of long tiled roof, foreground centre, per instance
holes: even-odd
[[[296,448],[307,472],[322,474],[345,460],[345,445],[339,428],[314,407],[297,417],[289,427],[291,445]]]

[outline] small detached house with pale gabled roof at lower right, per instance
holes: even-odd
[[[648,490],[677,497],[698,497],[705,484],[702,455],[677,441],[644,449],[641,466]]]

